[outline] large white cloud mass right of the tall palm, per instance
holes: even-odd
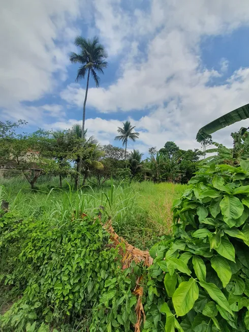
[[[103,2],[97,3],[101,12]],[[111,54],[124,57],[114,83],[89,89],[88,106],[103,113],[150,110],[139,121],[131,119],[141,129],[143,144],[160,148],[167,140],[174,140],[182,148],[190,148],[198,145],[195,136],[199,128],[248,103],[248,68],[238,69],[222,85],[215,85],[215,79],[227,70],[228,61],[222,59],[217,72],[207,70],[200,56],[203,37],[231,33],[248,25],[247,0],[240,6],[233,0],[154,0],[150,10],[132,13],[122,9],[120,1],[105,4],[96,25],[103,38],[106,36]],[[140,44],[144,48],[141,57]],[[84,88],[71,84],[60,96],[80,107],[84,94]],[[240,125],[214,138],[229,143],[229,135],[224,133]]]

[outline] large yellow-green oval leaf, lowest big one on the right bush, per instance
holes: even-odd
[[[199,296],[199,289],[195,279],[180,283],[172,296],[173,306],[177,316],[187,314]]]

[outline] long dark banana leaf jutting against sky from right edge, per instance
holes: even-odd
[[[207,137],[207,135],[210,135],[217,130],[230,126],[235,122],[247,119],[248,117],[249,117],[249,104],[246,104],[237,109],[234,109],[233,111],[227,114],[222,115],[221,117],[217,118],[216,120],[213,120],[206,126],[202,127],[196,135],[196,140],[197,142],[201,142],[203,139]]]

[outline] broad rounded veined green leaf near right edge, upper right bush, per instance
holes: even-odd
[[[237,197],[234,196],[225,196],[222,199],[220,206],[223,216],[228,219],[238,219],[244,210],[243,204]]]

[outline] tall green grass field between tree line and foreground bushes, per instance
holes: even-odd
[[[186,186],[150,182],[126,185],[107,182],[102,188],[85,186],[75,191],[64,180],[58,188],[58,178],[40,178],[38,190],[32,191],[21,177],[0,179],[4,198],[20,218],[47,218],[61,227],[80,214],[97,215],[104,206],[103,218],[111,218],[115,231],[130,244],[148,250],[163,234],[171,231],[172,201]]]

